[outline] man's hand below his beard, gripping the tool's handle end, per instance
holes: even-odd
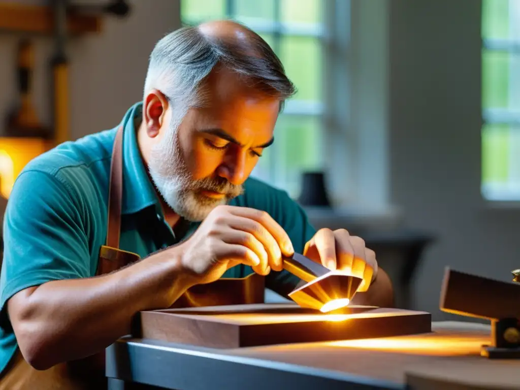
[[[282,270],[282,254],[294,249],[283,228],[264,211],[218,206],[181,245],[181,265],[193,283],[210,283],[238,264],[257,274]]]

